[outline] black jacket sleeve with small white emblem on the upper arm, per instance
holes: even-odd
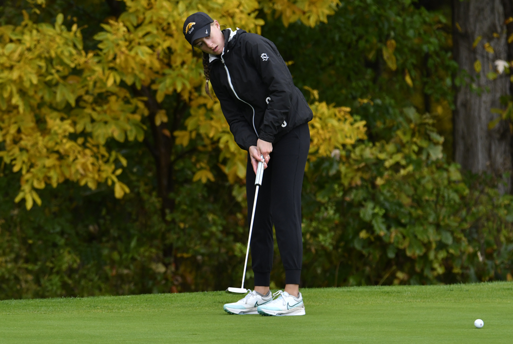
[[[289,68],[276,46],[257,34],[246,34],[245,55],[260,73],[269,90],[269,103],[258,130],[259,138],[273,142],[291,107],[294,84]]]

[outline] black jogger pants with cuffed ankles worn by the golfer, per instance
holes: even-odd
[[[303,258],[301,236],[301,187],[310,148],[308,123],[301,124],[273,143],[268,167],[263,172],[251,236],[255,285],[269,286],[273,265],[273,224],[285,283],[299,284]],[[246,167],[248,224],[255,199],[255,173],[248,155]]]

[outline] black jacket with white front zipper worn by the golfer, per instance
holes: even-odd
[[[226,29],[221,55],[210,55],[210,81],[235,142],[242,149],[257,140],[274,143],[313,118],[289,68],[273,42]]]

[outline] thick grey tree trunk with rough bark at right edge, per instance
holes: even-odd
[[[503,1],[511,0],[453,0],[454,60],[460,71],[474,77],[474,80],[464,83],[455,95],[454,160],[473,173],[487,172],[498,178],[504,178],[504,173],[513,169],[511,133],[506,121],[492,129],[488,129],[488,123],[498,117],[491,109],[501,108],[500,97],[509,93],[510,83],[509,75],[499,75],[493,81],[486,75],[495,70],[496,60],[507,59]],[[494,37],[494,33],[500,36]],[[482,40],[473,48],[479,36]],[[491,44],[494,53],[485,50],[486,43]],[[479,73],[474,70],[474,63],[478,60],[482,66]],[[504,181],[507,185],[501,185],[499,189],[510,193],[511,177]]]

